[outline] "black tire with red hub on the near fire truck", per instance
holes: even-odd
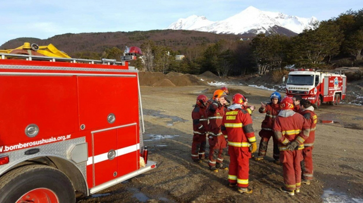
[[[0,177],[0,203],[20,202],[75,203],[76,197],[71,181],[61,171],[27,165]]]

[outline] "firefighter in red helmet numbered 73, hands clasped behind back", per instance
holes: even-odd
[[[283,163],[285,186],[280,190],[294,195],[300,192],[303,143],[309,137],[310,126],[306,119],[293,111],[291,98],[285,97],[280,102],[280,113],[273,124],[273,133],[279,142],[280,161]]]

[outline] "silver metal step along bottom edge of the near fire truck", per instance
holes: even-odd
[[[102,185],[99,185],[99,186],[96,186],[94,188],[91,188],[90,189],[90,192],[89,192],[90,193],[89,195],[94,194],[96,192],[99,192],[99,191],[101,191],[101,190],[103,190],[105,188],[111,187],[113,185],[116,185],[118,183],[121,183],[121,182],[123,182],[125,180],[128,180],[128,179],[130,179],[132,177],[135,177],[136,175],[139,175],[139,174],[143,174],[145,172],[148,172],[148,171],[150,171],[150,170],[152,170],[154,168],[156,168],[156,162],[154,162],[154,161],[148,161],[148,163],[146,164],[145,167],[142,167],[142,168],[140,168],[137,171],[134,171],[134,172],[132,172],[130,174],[123,175],[123,176],[121,176],[121,177],[119,177],[117,179],[111,180],[111,181],[109,181],[107,183],[104,183]]]

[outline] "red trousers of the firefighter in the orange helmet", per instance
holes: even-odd
[[[209,136],[209,167],[215,167],[216,163],[223,162],[223,149],[227,147],[227,141],[224,136]]]

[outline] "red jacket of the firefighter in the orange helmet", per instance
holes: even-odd
[[[208,114],[208,133],[212,136],[222,135],[221,124],[223,116],[226,114],[227,108],[225,105],[221,105],[219,102],[213,101],[209,105]]]

